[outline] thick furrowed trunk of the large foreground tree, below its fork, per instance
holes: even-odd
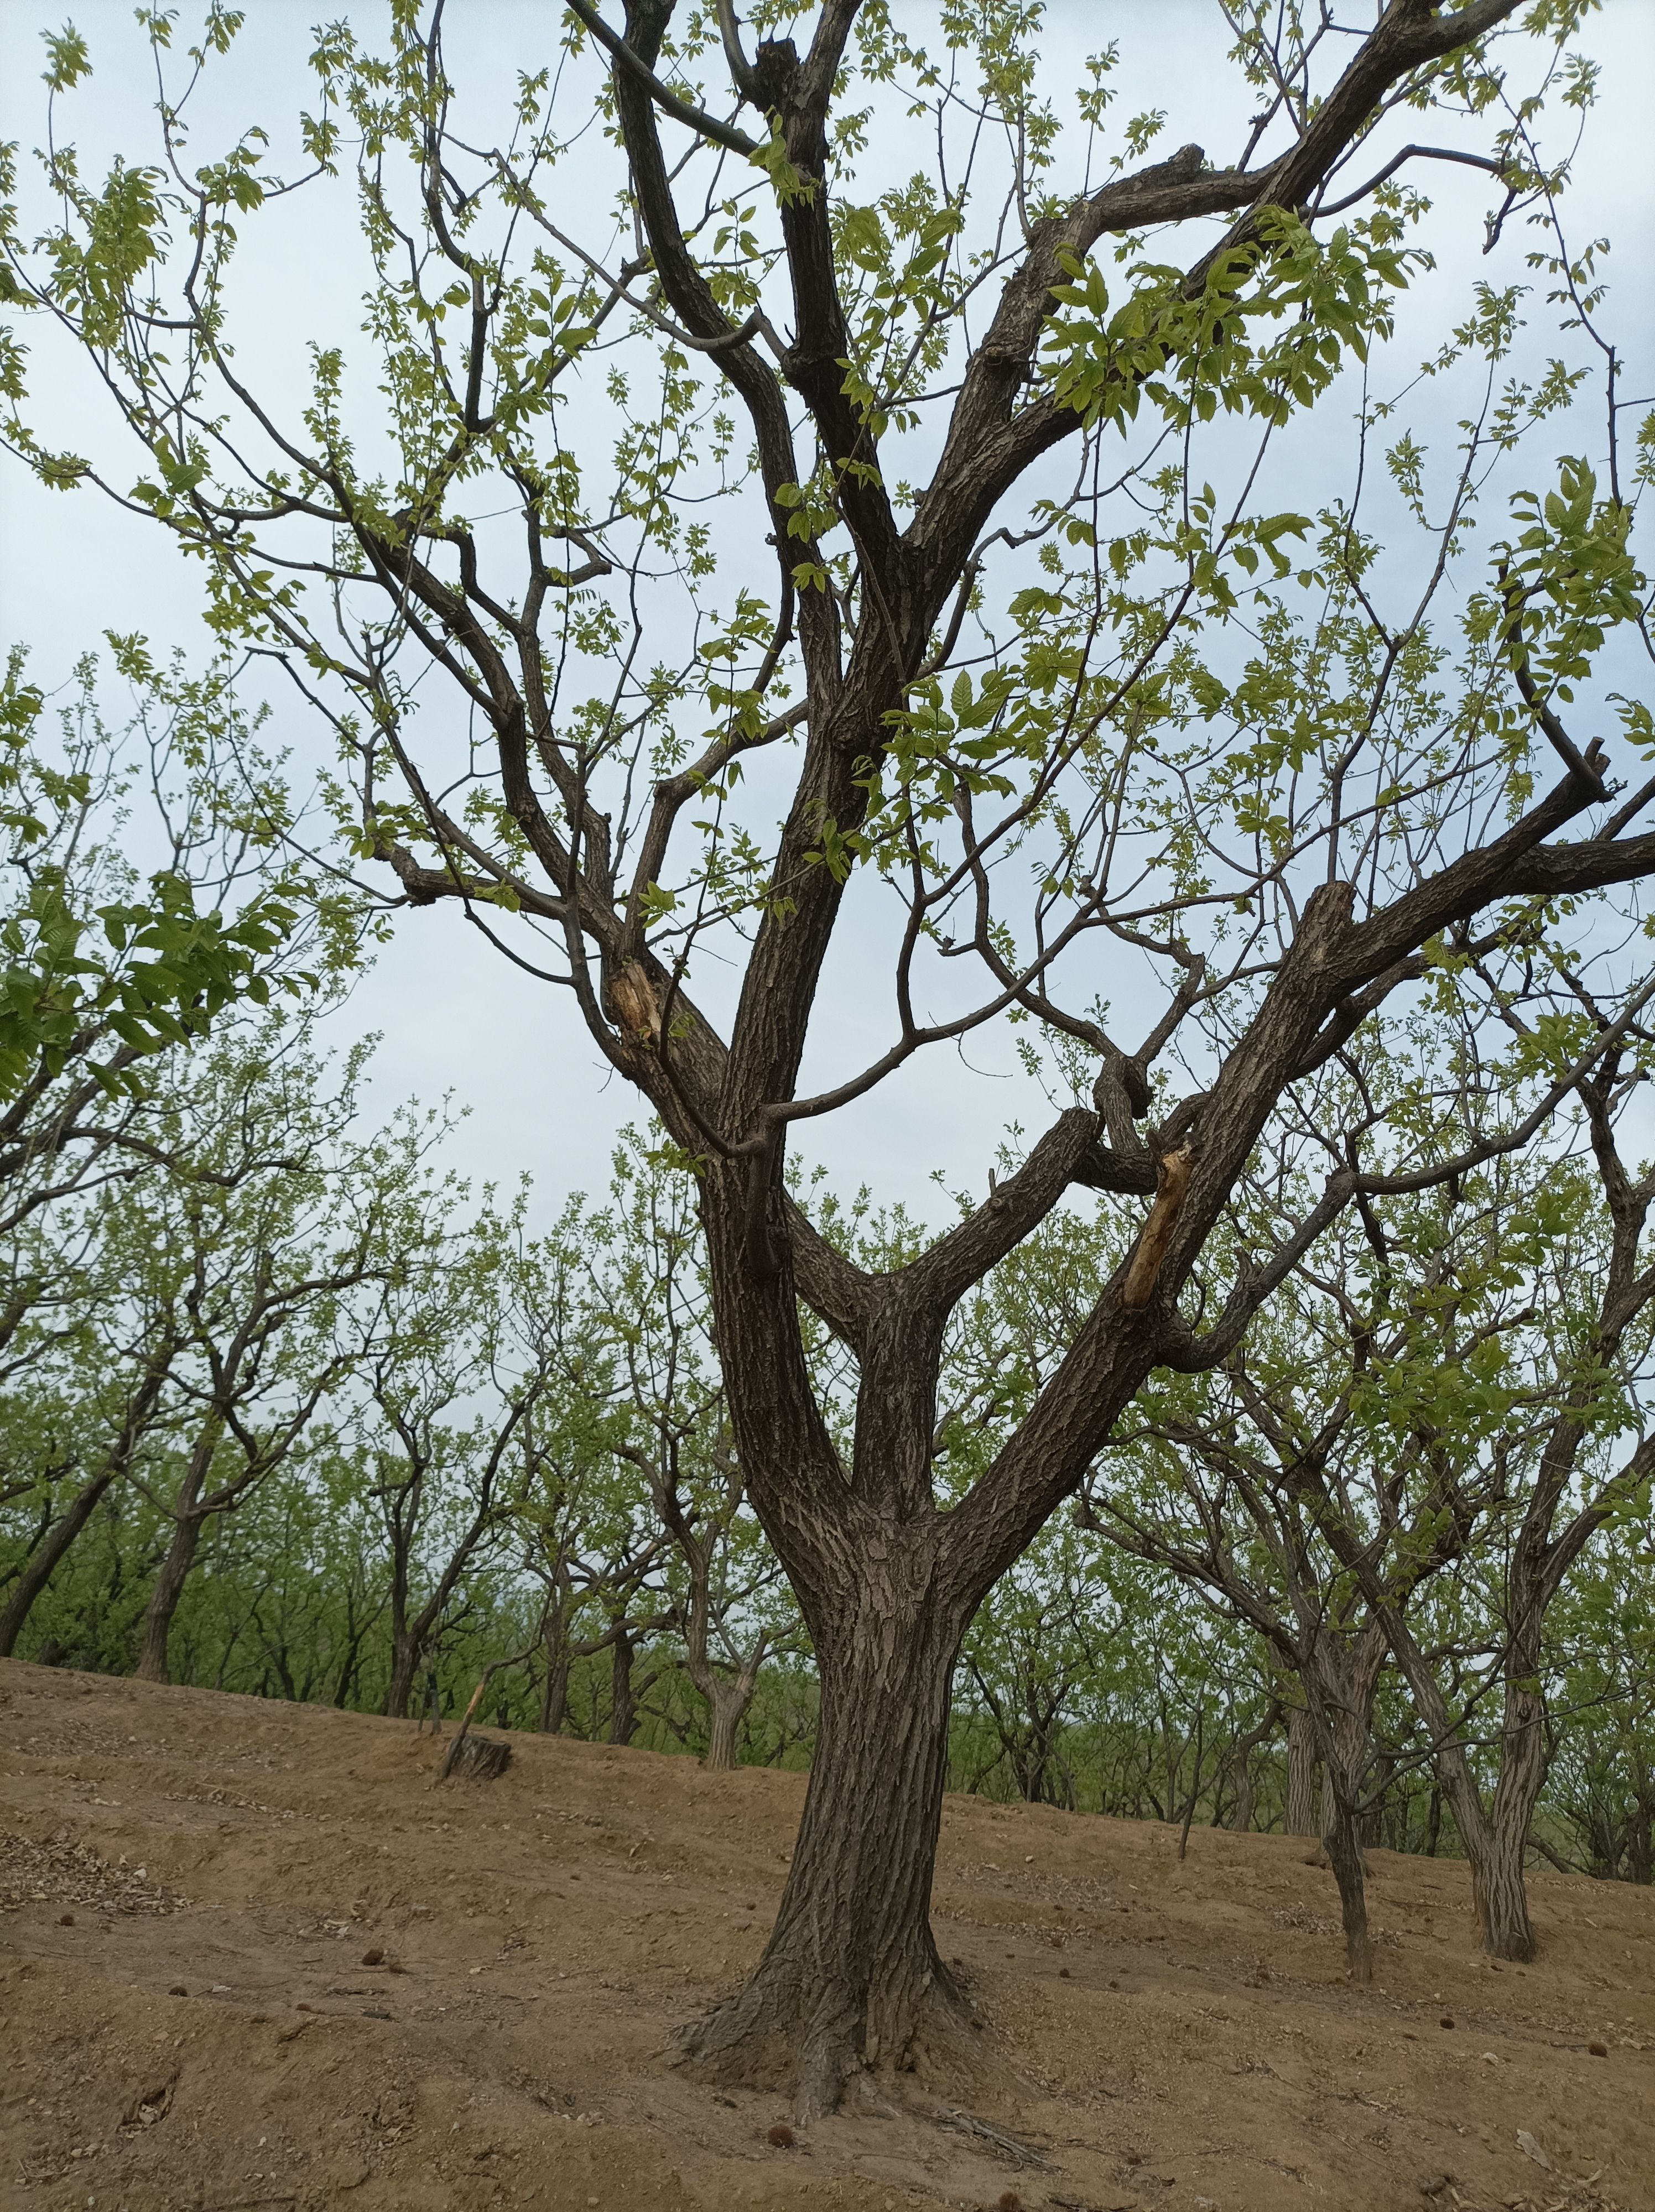
[[[721,2079],[790,2077],[805,2119],[967,2017],[929,1922],[958,1632],[938,1608],[874,1617],[858,1595],[858,1615],[819,1624],[816,1756],[770,1942],[746,1989],[675,2037]]]

